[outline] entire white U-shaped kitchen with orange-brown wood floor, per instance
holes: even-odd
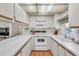
[[[0,3],[0,56],[79,56],[78,7]]]

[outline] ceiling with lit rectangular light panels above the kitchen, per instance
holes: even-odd
[[[34,15],[54,15],[56,13],[61,13],[68,9],[67,3],[61,4],[41,4],[41,3],[34,3],[34,4],[27,4],[27,3],[20,3],[20,6],[28,13],[30,16]]]

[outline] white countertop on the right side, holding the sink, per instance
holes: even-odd
[[[51,36],[54,40],[56,40],[59,44],[61,44],[65,49],[69,50],[71,53],[73,53],[76,56],[79,56],[79,44],[76,44],[74,42],[68,42],[68,41],[62,41],[59,39],[59,36]]]

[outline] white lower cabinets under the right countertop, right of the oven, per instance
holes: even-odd
[[[63,48],[54,39],[48,40],[48,49],[51,50],[54,56],[73,56],[73,54]]]

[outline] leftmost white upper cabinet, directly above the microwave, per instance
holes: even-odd
[[[13,3],[0,3],[0,17],[14,18],[14,4]]]

